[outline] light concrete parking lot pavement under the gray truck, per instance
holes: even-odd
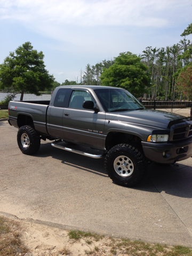
[[[114,237],[192,247],[192,158],[151,164],[138,186],[117,186],[104,159],[42,141],[23,155],[17,129],[0,122],[0,211]]]

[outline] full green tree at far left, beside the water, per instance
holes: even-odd
[[[43,52],[33,50],[30,42],[10,52],[0,65],[0,87],[5,89],[12,86],[21,93],[20,100],[23,100],[25,91],[41,95],[39,91],[50,90],[54,77],[45,69],[43,58]]]

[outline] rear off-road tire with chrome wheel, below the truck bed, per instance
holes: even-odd
[[[35,154],[41,141],[37,132],[29,125],[21,126],[17,135],[18,146],[23,154]]]

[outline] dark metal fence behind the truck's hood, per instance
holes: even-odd
[[[192,102],[190,101],[143,101],[143,106],[149,109],[157,109],[174,114],[189,117],[192,114]]]

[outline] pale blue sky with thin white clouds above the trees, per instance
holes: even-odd
[[[0,63],[31,42],[55,81],[75,81],[88,63],[179,43],[191,22],[191,0],[0,0]]]

